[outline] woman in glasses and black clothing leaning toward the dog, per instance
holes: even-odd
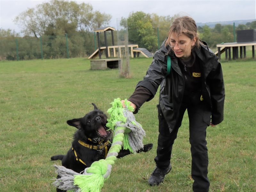
[[[167,55],[171,57],[170,74],[167,74]],[[206,43],[200,41],[196,23],[188,16],[174,20],[169,36],[155,53],[146,76],[128,99],[135,108],[134,113],[155,96],[159,85],[156,168],[148,183],[159,185],[172,169],[172,145],[187,109],[193,191],[208,191],[206,128],[223,121],[225,90],[218,58]]]

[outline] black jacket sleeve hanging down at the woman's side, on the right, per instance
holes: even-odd
[[[220,124],[224,118],[224,100],[225,88],[221,65],[218,62],[216,69],[213,69],[208,77],[207,82],[210,87],[212,102],[212,124]]]

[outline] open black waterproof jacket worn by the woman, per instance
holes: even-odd
[[[169,47],[165,47],[164,43],[161,45],[161,49],[155,53],[146,76],[137,84],[136,88],[139,86],[147,88],[153,95],[147,100],[149,101],[155,96],[160,85],[159,106],[169,125],[170,132],[172,132],[174,128],[181,124],[177,119],[180,113],[185,83],[178,65],[178,58],[173,52],[169,53],[171,56],[171,73],[166,76]],[[208,48],[206,43],[204,44],[205,46],[201,45],[200,49],[194,47],[193,51],[201,61],[202,95],[206,104],[208,103],[211,106],[212,124],[216,125],[223,121],[224,81],[218,57]]]

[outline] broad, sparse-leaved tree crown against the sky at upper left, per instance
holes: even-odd
[[[78,30],[89,33],[95,26],[108,24],[110,19],[109,14],[93,12],[90,4],[53,0],[20,13],[14,21],[25,35],[38,37],[70,34]]]

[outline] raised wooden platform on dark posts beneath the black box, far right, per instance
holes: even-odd
[[[255,57],[255,45],[256,42],[243,42],[243,43],[222,43],[217,44],[216,47],[218,48],[218,51],[215,52],[215,55],[217,55],[220,59],[221,53],[225,52],[225,58],[226,60],[231,60],[231,47],[232,47],[232,55],[233,59],[238,59],[238,47],[240,47],[240,59],[246,58],[246,46],[252,46],[252,58]]]

